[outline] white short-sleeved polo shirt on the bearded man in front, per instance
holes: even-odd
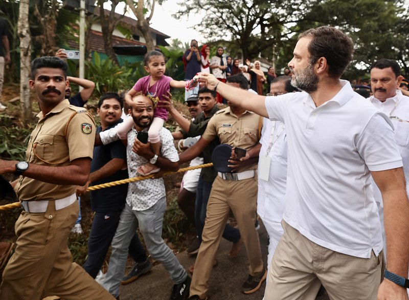
[[[370,258],[383,246],[370,170],[401,167],[402,159],[389,118],[348,81],[340,84],[318,108],[305,92],[266,97],[288,139],[283,219],[316,244]]]

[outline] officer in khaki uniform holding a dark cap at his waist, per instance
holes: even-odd
[[[229,85],[246,89],[247,80],[241,74],[227,78]],[[249,261],[248,278],[241,291],[249,294],[257,291],[266,278],[261,259],[260,241],[256,222],[257,206],[257,158],[260,151],[258,130],[260,116],[232,105],[218,111],[209,121],[200,140],[180,155],[180,162],[186,162],[201,153],[213,139],[218,137],[221,144],[247,150],[246,164],[230,160],[236,170],[231,173],[218,173],[209,198],[202,243],[197,255],[189,299],[207,299],[208,282],[213,261],[220,243],[224,226],[233,210],[239,225],[241,238]]]

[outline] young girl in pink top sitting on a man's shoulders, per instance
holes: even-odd
[[[159,138],[159,131],[163,127],[164,122],[168,119],[168,112],[165,108],[158,108],[157,103],[162,100],[162,95],[166,95],[172,88],[187,88],[188,81],[177,81],[171,77],[164,75],[166,71],[165,56],[159,51],[150,51],[145,55],[144,59],[145,71],[149,73],[148,76],[140,78],[133,88],[125,95],[125,101],[132,103],[132,98],[141,93],[150,98],[154,104],[153,121],[148,131],[148,141],[152,145],[155,155],[160,154],[161,140]],[[143,102],[135,102],[133,106],[144,108]],[[122,128],[118,128],[118,135],[121,139],[126,139],[126,134],[133,126],[133,119],[127,118],[124,121]],[[141,175],[149,175],[160,170],[157,166],[147,163],[138,168],[138,173]]]

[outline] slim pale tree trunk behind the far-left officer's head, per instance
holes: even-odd
[[[20,0],[18,16],[18,36],[20,37],[20,102],[25,124],[32,118],[30,101],[30,64],[31,64],[31,35],[29,23],[30,0]]]

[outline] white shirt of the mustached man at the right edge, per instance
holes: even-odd
[[[391,119],[395,128],[395,139],[403,161],[405,178],[409,178],[409,97],[396,90],[396,95],[386,99],[384,102],[379,101],[374,96],[368,99],[378,110]],[[408,182],[406,180],[406,191],[409,191]],[[376,185],[374,186],[374,197],[376,202],[382,204],[380,190]]]

